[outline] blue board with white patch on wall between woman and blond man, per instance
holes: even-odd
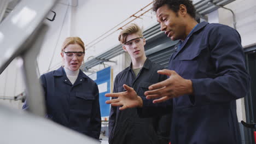
[[[110,112],[110,105],[106,104],[106,100],[110,98],[105,97],[106,93],[110,93],[110,79],[111,68],[108,67],[97,71],[97,78],[94,80],[98,85],[98,91],[100,93],[101,117],[108,117]]]

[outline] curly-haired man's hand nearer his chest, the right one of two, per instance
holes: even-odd
[[[149,86],[149,91],[144,94],[147,99],[155,99],[153,103],[161,103],[171,98],[179,97],[183,94],[193,94],[191,80],[183,79],[176,71],[173,70],[158,70],[161,75],[170,76],[167,80],[155,83]]]

